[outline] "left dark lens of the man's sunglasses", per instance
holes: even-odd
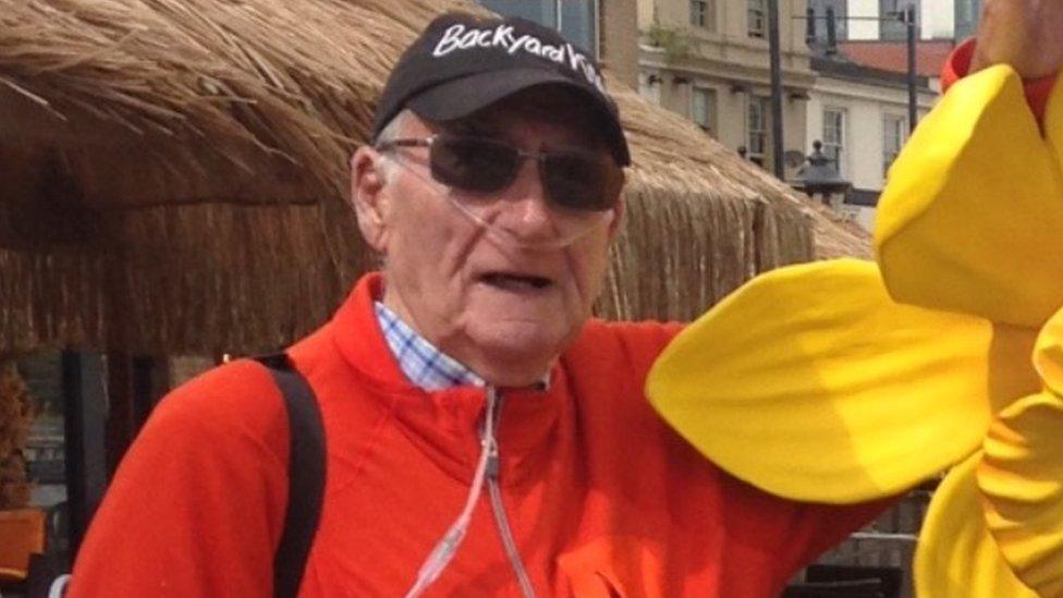
[[[432,176],[462,191],[504,188],[513,181],[518,160],[516,149],[492,139],[441,135],[431,146]]]

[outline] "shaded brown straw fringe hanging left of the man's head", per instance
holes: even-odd
[[[346,290],[321,242],[319,210],[120,211],[105,218],[109,243],[86,249],[95,253],[0,249],[4,350],[219,354],[283,346],[323,322]],[[201,235],[203,227],[217,234]],[[372,259],[364,248],[351,253]]]

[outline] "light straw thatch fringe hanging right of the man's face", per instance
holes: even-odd
[[[707,197],[657,178],[626,202],[598,305],[607,318],[687,321],[756,273],[812,253],[805,216],[763,199]]]

